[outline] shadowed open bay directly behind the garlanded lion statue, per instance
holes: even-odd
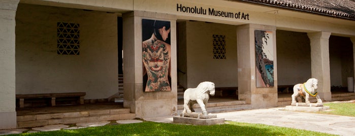
[[[305,32],[276,30],[278,96],[291,97],[293,86],[311,78],[311,48]]]

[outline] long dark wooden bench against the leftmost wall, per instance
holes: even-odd
[[[82,105],[84,104],[85,95],[86,95],[85,92],[16,94],[16,99],[19,99],[20,108],[24,108],[24,100],[30,98],[50,98],[51,106],[56,106],[57,97],[78,97],[77,101]]]

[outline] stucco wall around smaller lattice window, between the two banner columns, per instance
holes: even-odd
[[[213,59],[213,35],[225,36],[226,59]],[[238,86],[235,25],[186,22],[187,87],[211,81],[216,87]]]

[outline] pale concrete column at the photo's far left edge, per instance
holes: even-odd
[[[0,129],[16,128],[15,16],[19,1],[0,1]]]

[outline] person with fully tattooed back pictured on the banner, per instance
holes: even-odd
[[[150,28],[151,23],[145,21],[155,20],[142,20],[143,28]],[[169,27],[170,28],[170,27]],[[159,31],[163,31],[160,28]],[[149,30],[142,32],[150,32]],[[155,34],[155,32],[150,32],[151,37],[149,39],[143,40],[142,44],[142,55],[143,55],[143,89],[145,92],[153,91],[171,91],[170,83],[170,44],[166,43],[163,39],[159,40],[161,35]],[[160,36],[161,37],[161,36]]]

